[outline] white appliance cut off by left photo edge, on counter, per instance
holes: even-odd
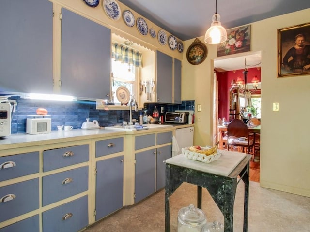
[[[11,104],[8,99],[0,98],[0,137],[11,135]]]

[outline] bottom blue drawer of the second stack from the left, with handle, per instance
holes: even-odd
[[[42,213],[43,232],[78,232],[88,225],[88,196]]]

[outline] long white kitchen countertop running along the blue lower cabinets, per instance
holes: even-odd
[[[111,130],[105,130],[104,128],[100,128],[90,130],[74,129],[72,131],[52,131],[51,133],[47,134],[17,133],[17,134],[11,134],[10,136],[7,137],[0,137],[0,150],[35,146],[35,145],[72,142],[85,139],[105,138],[125,134],[140,134],[156,131],[169,131],[171,129],[178,129],[191,126],[194,126],[194,124],[172,125],[172,127],[152,128],[149,130],[141,130],[141,131],[111,131]]]

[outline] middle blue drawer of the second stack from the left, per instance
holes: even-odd
[[[44,176],[42,205],[58,202],[88,190],[88,166]]]

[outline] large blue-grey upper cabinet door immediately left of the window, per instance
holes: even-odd
[[[110,29],[63,8],[61,93],[107,99],[110,69]]]

